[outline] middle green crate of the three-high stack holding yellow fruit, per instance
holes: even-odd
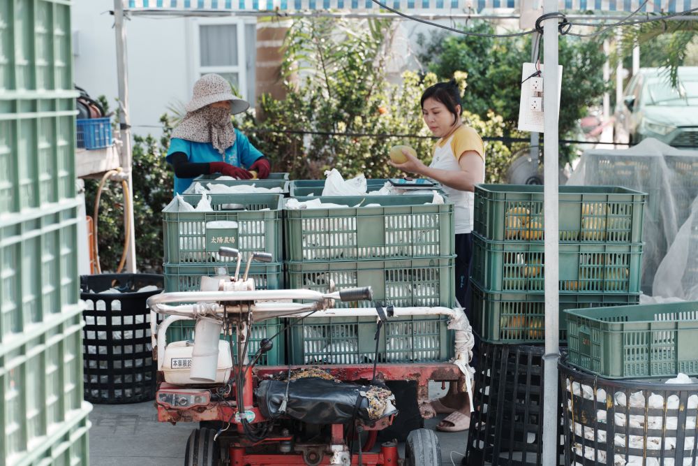
[[[638,293],[643,245],[559,245],[559,291]],[[544,291],[543,243],[487,241],[473,234],[473,282],[496,293]]]

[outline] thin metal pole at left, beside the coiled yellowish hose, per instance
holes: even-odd
[[[133,221],[133,177],[131,176],[131,124],[128,115],[128,67],[126,66],[126,27],[124,27],[124,4],[114,0],[114,32],[117,38],[117,80],[119,82],[119,138],[121,152],[119,160],[128,183],[131,209],[124,205],[124,222],[129,225],[128,251],[126,252],[126,270],[135,272],[135,225]],[[126,218],[126,215],[128,217]]]

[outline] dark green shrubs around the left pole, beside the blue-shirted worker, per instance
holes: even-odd
[[[172,130],[168,118],[161,117],[165,130],[161,140],[134,136],[133,216],[135,219],[137,268],[161,272],[163,263],[163,222],[161,210],[172,200],[174,180],[164,154]],[[85,180],[87,213],[94,212],[99,180]],[[103,272],[115,271],[124,245],[124,203],[121,183],[107,181],[101,194],[98,243]]]

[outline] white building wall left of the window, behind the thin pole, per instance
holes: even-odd
[[[75,84],[116,110],[119,96],[113,0],[75,0],[72,8]],[[184,18],[126,20],[128,99],[133,133],[161,134],[160,115],[191,98],[190,34]]]

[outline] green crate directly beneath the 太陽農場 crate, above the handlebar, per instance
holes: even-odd
[[[214,277],[235,273],[235,264],[221,270],[220,266],[208,265],[163,265],[165,269],[165,291],[200,291],[201,277]],[[241,266],[241,277],[244,273]],[[223,273],[220,273],[223,272]],[[281,263],[253,263],[248,277],[255,280],[255,289],[283,289],[283,267]]]

